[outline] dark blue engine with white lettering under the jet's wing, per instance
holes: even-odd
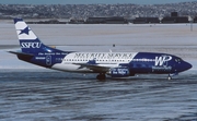
[[[112,77],[127,77],[130,75],[128,68],[112,68],[108,73]]]

